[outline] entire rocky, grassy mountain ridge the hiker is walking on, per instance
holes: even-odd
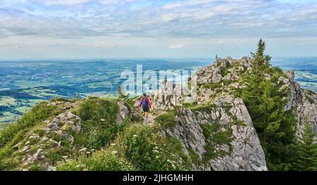
[[[40,103],[0,132],[0,170],[268,170],[271,148],[241,96],[252,63],[218,58],[194,75],[197,97],[165,94],[180,86],[164,82],[145,120],[137,97]],[[293,131],[300,136],[311,123],[316,134],[316,94],[292,71],[269,71],[284,111],[294,112]]]

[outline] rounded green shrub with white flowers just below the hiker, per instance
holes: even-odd
[[[163,137],[153,127],[131,125],[118,135],[113,150],[129,160],[137,170],[188,170],[189,158],[182,147],[181,141]]]

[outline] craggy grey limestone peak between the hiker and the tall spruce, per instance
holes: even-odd
[[[265,155],[248,110],[241,98],[230,95],[232,89],[243,87],[238,81],[250,68],[251,58],[233,60],[228,57],[218,58],[209,67],[196,72],[199,88],[197,108],[177,110],[178,124],[167,130],[170,136],[184,143],[185,153],[192,150],[203,161],[202,164],[192,164],[192,170],[267,170]],[[211,86],[205,87],[205,84]],[[171,110],[182,107],[186,96],[179,91],[177,84],[165,82],[152,97],[154,108]],[[209,136],[204,133],[206,127],[217,129]]]

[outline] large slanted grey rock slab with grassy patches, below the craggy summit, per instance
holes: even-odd
[[[240,98],[222,97],[204,110],[182,108],[179,111],[178,115],[181,116],[178,117],[178,125],[169,129],[168,134],[180,139],[200,159],[207,158],[206,152],[215,153],[204,164],[193,165],[192,170],[267,170],[265,155],[251,117]],[[218,129],[211,135],[211,141],[204,136],[204,125],[217,125]],[[230,142],[217,141],[217,136],[227,136],[222,139]]]

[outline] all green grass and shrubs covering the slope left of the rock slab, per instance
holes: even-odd
[[[72,102],[63,98],[52,102],[56,101]],[[71,143],[67,136],[45,131],[44,120],[65,111],[63,106],[49,105],[41,103],[21,118],[19,122],[24,125],[0,132],[1,139],[6,141],[1,143],[0,170],[21,170],[20,167],[46,170],[46,164],[56,166],[57,170],[189,170],[192,159],[182,151],[182,142],[162,134],[162,126],[172,127],[176,123],[175,111],[156,120],[160,127],[132,122],[130,116],[119,125],[118,100],[86,98],[72,110],[82,118],[80,132],[75,132],[70,125],[60,125],[63,132],[73,136]],[[45,137],[48,139],[42,140]],[[22,152],[25,146],[29,150]],[[23,165],[26,155],[34,155],[39,150],[44,158]]]

